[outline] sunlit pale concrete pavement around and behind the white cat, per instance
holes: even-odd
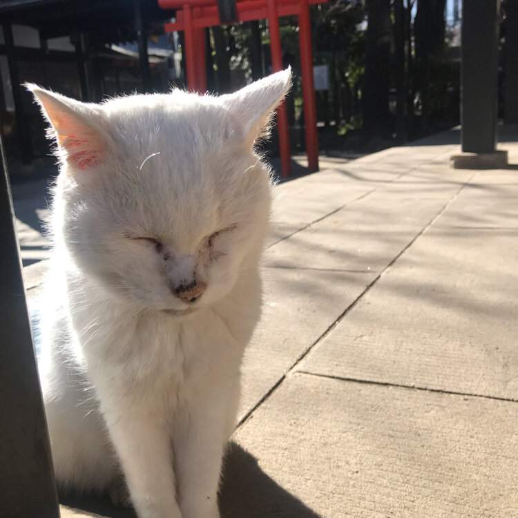
[[[518,517],[518,171],[450,169],[456,139],[276,187],[223,518]]]

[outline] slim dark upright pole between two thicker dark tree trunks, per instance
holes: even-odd
[[[403,0],[394,0],[394,40],[396,61],[396,135],[400,143],[406,140],[405,105],[405,8]]]

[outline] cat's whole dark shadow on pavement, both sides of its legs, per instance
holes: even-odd
[[[101,517],[136,518],[133,510],[115,507],[106,497],[59,495],[59,501]],[[222,518],[320,518],[313,510],[271,479],[257,459],[230,443],[220,488]]]

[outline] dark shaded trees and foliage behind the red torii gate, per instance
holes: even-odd
[[[381,90],[385,92],[387,88],[390,93],[388,100],[387,95],[383,95],[382,102],[383,106],[385,103],[389,104],[385,113],[388,113],[390,107],[390,119],[380,119],[380,124],[384,126],[381,133],[391,135],[394,132],[396,85],[401,84],[401,77],[398,83],[396,76],[397,57],[394,53],[396,1],[398,0],[390,0],[390,16],[388,19],[385,18],[381,28],[385,32],[378,35],[384,42],[386,59],[373,59],[372,55],[367,55],[367,52],[376,52],[376,48],[367,50],[367,8],[377,5],[376,2],[329,0],[327,3],[310,7],[314,64],[329,67],[329,90],[316,92],[318,120],[325,123],[328,131],[334,131],[338,135],[357,131],[366,120],[362,109],[364,95],[374,95],[375,100],[380,97],[378,94]],[[444,5],[445,0],[403,0],[405,125],[407,132],[412,135],[416,135],[416,129],[418,133],[431,131],[441,118],[455,122],[457,117],[459,68],[457,64],[443,57],[443,48],[448,48],[454,41],[451,28],[445,32]],[[373,13],[376,15],[376,12]],[[236,89],[249,83],[253,77],[254,66],[254,77],[258,77],[257,70],[262,74],[271,72],[268,21],[260,20],[254,27],[256,40],[253,39],[250,23],[236,23],[222,28],[218,53],[224,52],[225,70],[221,73],[218,63],[221,68],[223,61],[221,57],[220,61],[215,57],[217,49],[214,38],[211,37],[213,68],[218,77],[216,88],[220,88],[221,91]],[[290,124],[303,124],[297,17],[280,18],[280,39],[284,64],[291,65],[295,77],[294,87],[288,99]],[[255,57],[250,50],[253,41],[256,41]],[[388,52],[387,41],[390,49]],[[376,85],[376,88],[366,92],[364,81],[367,63],[371,63],[371,67],[374,66],[374,71],[371,68],[370,72],[370,84]],[[383,78],[379,76],[377,83],[376,67],[384,74]],[[390,69],[388,84],[387,67]],[[223,76],[229,77],[224,79]],[[447,113],[448,110],[452,113]],[[381,111],[381,108],[376,108],[374,113]]]

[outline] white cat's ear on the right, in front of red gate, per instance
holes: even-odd
[[[258,137],[267,134],[271,116],[290,86],[291,68],[287,68],[220,97],[247,144],[253,145]]]

